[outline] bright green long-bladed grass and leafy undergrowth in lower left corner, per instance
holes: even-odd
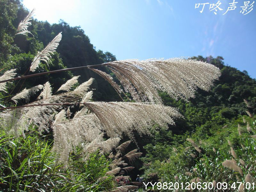
[[[82,149],[77,148],[67,169],[55,163],[52,142],[38,132],[15,139],[1,132],[1,191],[102,191],[117,187],[113,176],[106,175],[110,171],[106,156],[95,152],[85,161]]]

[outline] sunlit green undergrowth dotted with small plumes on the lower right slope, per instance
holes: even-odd
[[[158,180],[173,183],[212,182],[214,190],[217,190],[218,182],[226,182],[230,186],[234,182],[242,182],[244,186],[246,182],[255,182],[256,122],[254,119],[255,117],[240,116],[224,127],[220,126],[215,130],[215,135],[208,139],[202,138],[200,132],[192,134],[191,138],[187,139],[184,135],[184,144],[169,148],[169,158],[145,164],[144,177],[151,182]],[[152,154],[151,151],[148,153]],[[148,159],[152,158],[146,155],[144,161],[147,162]],[[236,186],[236,189],[231,188],[228,191],[237,190]],[[244,190],[241,187],[239,191]]]

